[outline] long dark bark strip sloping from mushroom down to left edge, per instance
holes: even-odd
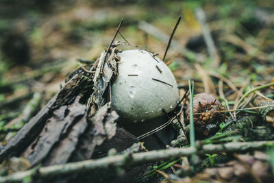
[[[84,75],[74,75],[69,82],[56,94],[47,105],[42,108],[27,124],[25,124],[16,135],[8,141],[8,143],[0,151],[0,162],[7,156],[18,156],[23,153],[36,136],[41,132],[47,119],[55,109],[71,103],[79,93],[83,90],[83,85],[90,88],[90,81]],[[90,89],[90,93],[92,90]]]

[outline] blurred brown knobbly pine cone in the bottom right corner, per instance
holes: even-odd
[[[253,182],[254,176],[261,182],[273,182],[274,176],[269,156],[256,151],[251,155],[238,155],[239,160],[227,162],[224,167],[208,168],[195,176],[195,180],[211,182]],[[251,173],[253,175],[251,175]]]

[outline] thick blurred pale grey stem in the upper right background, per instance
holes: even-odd
[[[218,68],[220,65],[220,58],[214,45],[213,38],[210,34],[210,28],[206,23],[206,13],[203,11],[203,9],[197,8],[195,10],[195,14],[197,16],[199,23],[201,24],[201,28],[203,31],[203,39],[206,42],[206,47],[208,47],[208,54],[210,55],[210,58],[213,59],[211,65],[213,68]]]

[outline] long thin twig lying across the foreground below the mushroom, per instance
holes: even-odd
[[[274,141],[254,141],[245,143],[226,143],[219,145],[204,145],[197,150],[195,147],[161,149],[147,151],[136,154],[123,154],[116,156],[108,156],[97,160],[84,160],[80,162],[70,162],[66,164],[58,164],[49,167],[42,167],[35,172],[20,171],[11,175],[0,177],[0,182],[22,182],[27,176],[35,176],[36,178],[49,178],[58,175],[69,175],[71,173],[79,173],[91,171],[93,169],[121,167],[129,164],[139,164],[142,162],[153,162],[155,160],[168,160],[170,158],[179,158],[182,156],[191,156],[192,154],[219,154],[222,152],[245,151],[247,149],[258,149],[265,146],[274,145]]]

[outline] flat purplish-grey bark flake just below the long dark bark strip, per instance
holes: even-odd
[[[86,113],[86,106],[79,103],[77,97],[69,106],[62,106],[53,112],[53,117],[47,120],[44,129],[28,149],[23,154],[23,157],[28,158],[34,165],[41,162],[58,141],[64,138],[68,128],[77,123],[79,118],[82,118]]]

